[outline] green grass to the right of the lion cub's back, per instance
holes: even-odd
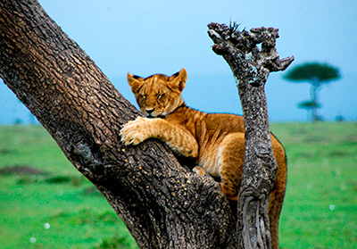
[[[286,147],[282,248],[357,248],[357,123],[273,124]]]

